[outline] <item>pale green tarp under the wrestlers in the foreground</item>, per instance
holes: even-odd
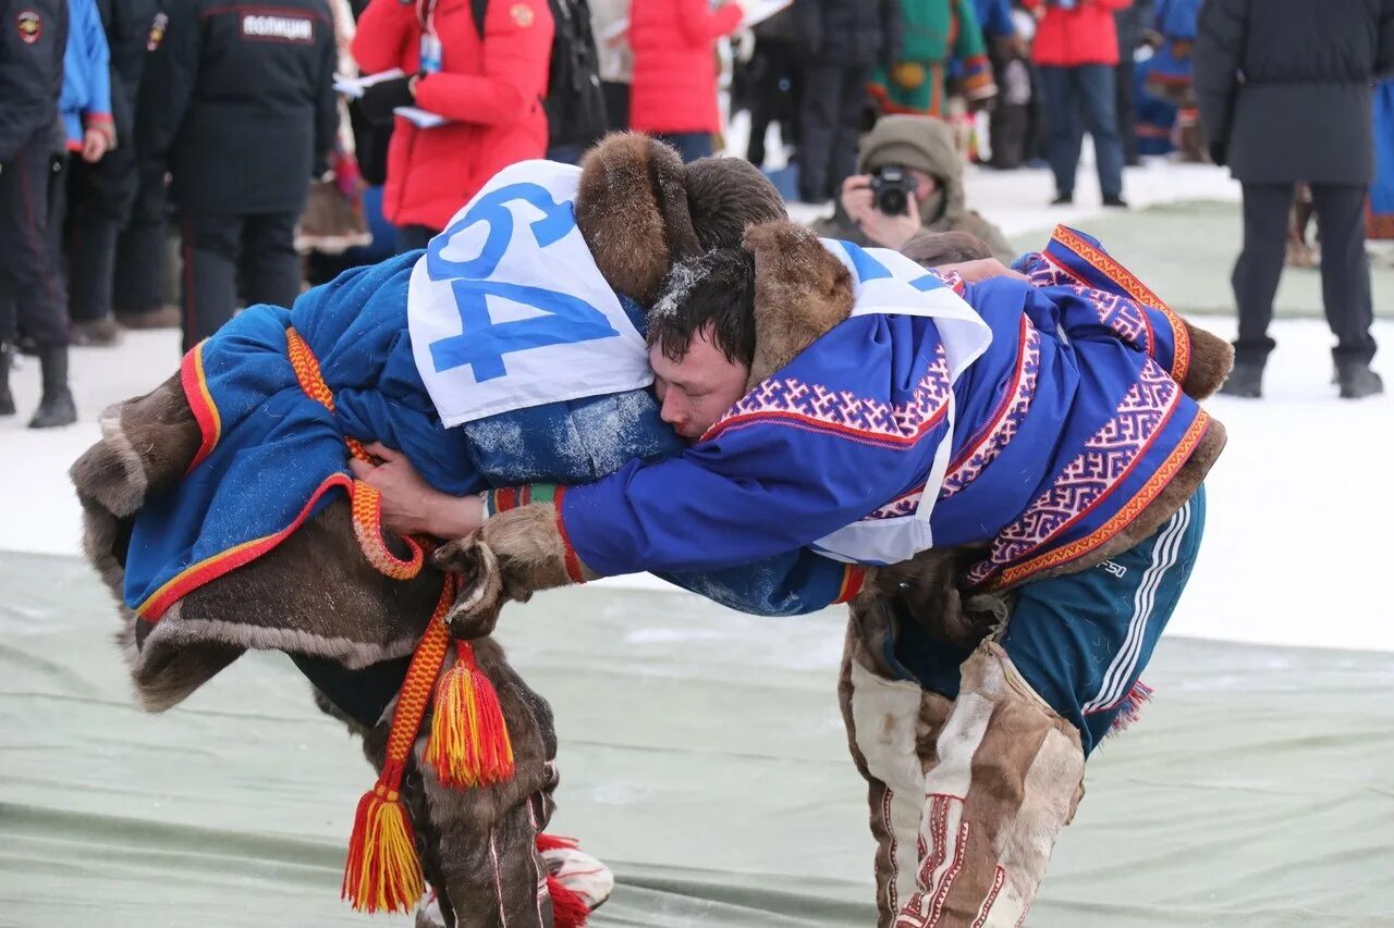
[[[410,924],[339,902],[374,778],[284,656],[151,716],[82,563],[0,555],[0,925]],[[552,830],[618,875],[597,928],[873,924],[841,613],[577,589],[500,627],[556,711]],[[1164,640],[1144,679],[1029,925],[1394,924],[1394,655]]]

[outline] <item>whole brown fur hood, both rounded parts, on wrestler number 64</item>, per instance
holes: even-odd
[[[615,132],[581,162],[576,224],[605,280],[644,307],[679,261],[739,247],[749,226],[785,216],[774,184],[743,159],[684,166],[648,135]]]

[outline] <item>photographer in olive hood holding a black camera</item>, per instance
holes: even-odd
[[[824,238],[901,248],[921,231],[963,231],[1009,265],[1016,251],[1001,230],[966,208],[963,162],[949,127],[927,116],[882,116],[861,141],[857,173],[836,209],[813,224]]]

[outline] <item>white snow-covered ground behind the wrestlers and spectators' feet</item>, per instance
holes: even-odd
[[[1097,215],[1087,205],[1047,209],[1050,178],[1041,171],[973,171],[969,183],[974,205],[1009,231],[1062,220],[1087,230]],[[1138,205],[1235,195],[1216,169],[1170,164],[1132,171],[1128,191]],[[1126,262],[1126,255],[1118,256]],[[1149,283],[1165,295],[1165,280]],[[1232,336],[1228,318],[1196,322]],[[1228,428],[1230,446],[1209,481],[1204,553],[1171,631],[1394,651],[1394,621],[1376,589],[1394,550],[1394,495],[1383,456],[1394,449],[1394,396],[1335,399],[1331,337],[1320,320],[1280,320],[1273,334],[1280,348],[1264,400],[1221,397],[1209,404]],[[1376,337],[1394,344],[1394,323],[1377,323]],[[82,421],[47,432],[24,428],[38,401],[36,365],[25,359],[13,372],[20,415],[0,419],[0,549],[78,553],[68,464],[96,440],[105,405],[152,389],[177,361],[173,332],[131,333],[116,350],[75,348],[72,383]],[[647,577],[605,582],[666,588]]]

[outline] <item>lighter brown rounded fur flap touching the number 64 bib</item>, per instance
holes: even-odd
[[[576,224],[606,283],[645,308],[673,262],[700,251],[682,159],[640,132],[606,135],[587,152]]]

